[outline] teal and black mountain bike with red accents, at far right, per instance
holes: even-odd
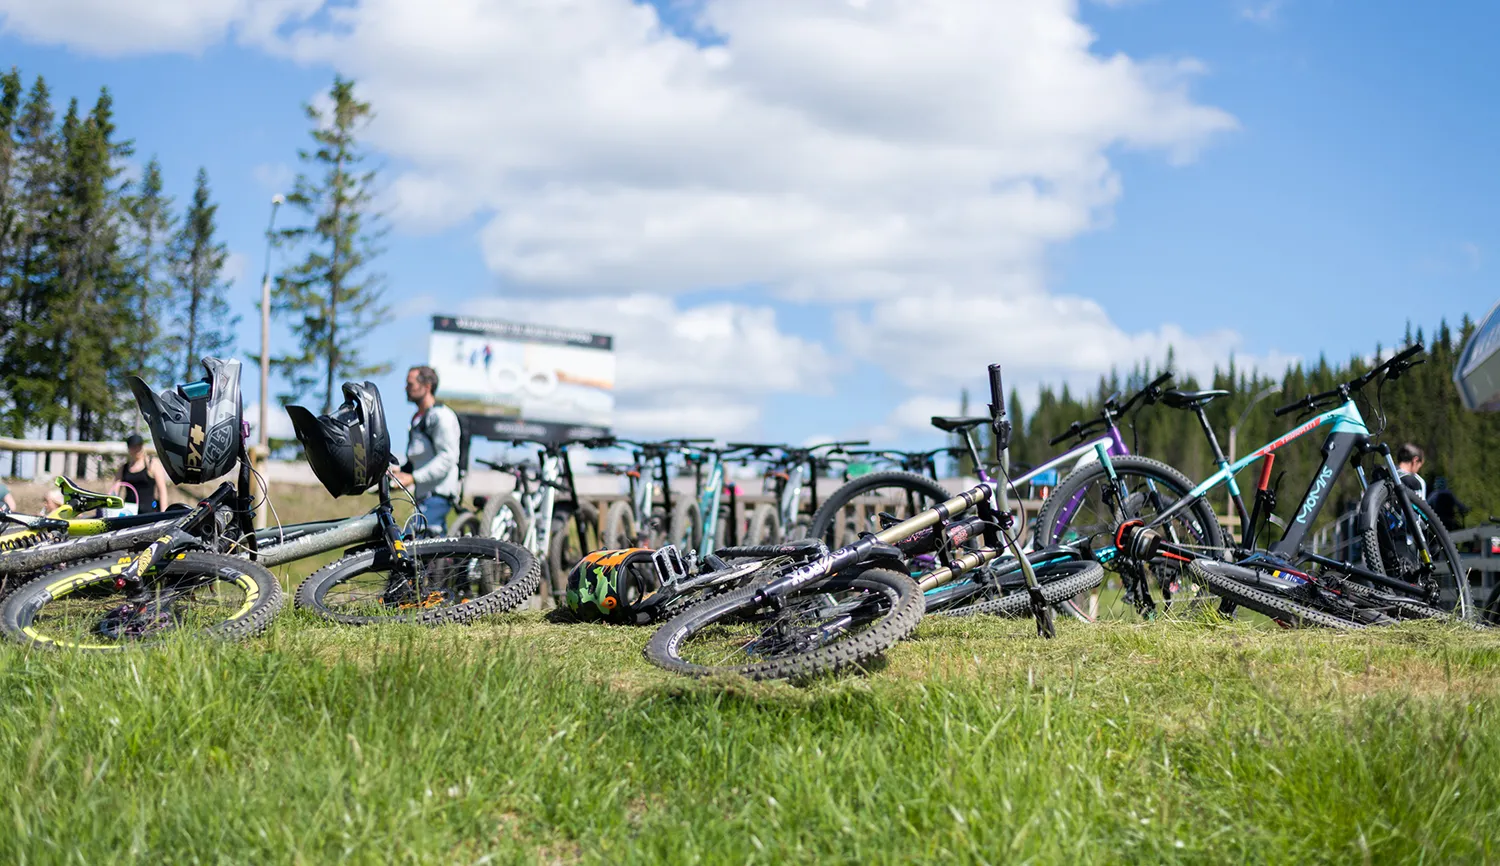
[[[1196,408],[1220,468],[1164,510],[1142,516],[1134,512],[1138,500],[1132,500],[1128,488],[1120,483],[1112,459],[1101,456],[1100,465],[1090,471],[1096,473],[1102,498],[1113,507],[1118,522],[1098,551],[1100,555],[1122,557],[1122,573],[1131,575],[1137,582],[1143,582],[1156,563],[1173,563],[1178,567],[1186,564],[1200,582],[1224,599],[1224,608],[1233,611],[1234,606],[1245,606],[1286,624],[1362,627],[1413,617],[1473,620],[1468,578],[1452,539],[1426,503],[1395,480],[1400,473],[1389,446],[1374,440],[1384,429],[1380,390],[1422,363],[1413,360],[1420,351],[1420,344],[1412,345],[1332,390],[1308,395],[1278,408],[1276,417],[1293,413],[1312,417],[1234,462],[1221,458],[1214,431],[1202,411],[1215,392],[1178,395],[1174,399]],[[1380,420],[1374,434],[1356,401],[1372,383],[1377,386],[1374,402]],[[1322,426],[1330,428],[1322,449],[1323,462],[1308,483],[1306,494],[1298,500],[1282,536],[1260,549],[1258,525],[1274,510],[1276,498],[1270,485],[1275,452]],[[1362,461],[1368,456],[1377,459],[1382,477],[1365,471]],[[1234,474],[1257,461],[1264,464],[1256,506],[1244,524],[1242,539],[1232,548],[1238,561],[1220,561],[1221,549],[1184,543],[1172,531],[1173,521],[1191,515],[1204,503],[1209,491],[1221,485],[1230,486],[1232,495],[1238,498],[1238,488],[1232,486]],[[1304,543],[1338,477],[1350,465],[1365,488],[1359,513],[1368,525],[1362,530],[1372,533],[1366,540],[1365,566],[1322,555]],[[1064,489],[1059,488],[1058,495],[1062,494]],[[1238,507],[1244,509],[1244,503]],[[1190,516],[1188,522],[1197,519]]]

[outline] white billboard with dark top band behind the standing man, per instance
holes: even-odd
[[[428,363],[438,398],[474,435],[606,435],[615,413],[615,339],[609,335],[468,315],[432,317]]]

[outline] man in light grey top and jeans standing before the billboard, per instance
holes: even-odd
[[[406,399],[416,404],[406,438],[406,462],[392,476],[411,488],[428,531],[441,536],[459,500],[459,416],[438,402],[438,372],[414,366],[406,372]]]

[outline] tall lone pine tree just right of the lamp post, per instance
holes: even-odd
[[[324,411],[334,405],[339,378],[390,369],[388,363],[364,363],[357,345],[388,320],[381,279],[369,272],[380,234],[370,213],[375,173],[362,170],[366,156],[358,134],[370,120],[370,107],[356,99],[354,83],[344,78],[333,80],[328,98],[327,114],[306,107],[316,147],[298,153],[316,174],[300,174],[286,198],[310,224],[279,233],[282,243],[309,249],[300,264],[278,278],[272,299],[272,311],[290,320],[300,350],[272,365],[297,396],[321,386]]]

